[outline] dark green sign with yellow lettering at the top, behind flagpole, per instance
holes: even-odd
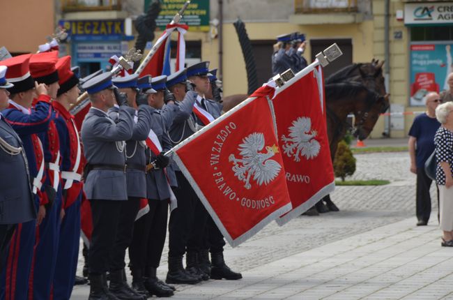
[[[173,17],[183,7],[186,0],[161,0],[162,8],[158,19],[155,21],[158,27],[165,29],[167,24],[173,20]],[[148,9],[150,0],[145,0],[145,10]],[[181,24],[187,24],[189,31],[209,31],[209,1],[192,0],[184,12]]]

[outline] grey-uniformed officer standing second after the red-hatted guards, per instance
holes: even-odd
[[[144,97],[137,97],[138,75],[126,75],[112,80],[120,94],[125,97],[128,105],[134,107],[131,117],[135,119],[132,138],[126,141],[126,182],[128,186],[128,201],[121,203],[121,216],[116,233],[115,246],[112,249],[110,262],[110,285],[109,290],[120,299],[142,299],[143,296],[132,290],[125,278],[125,250],[132,241],[132,232],[135,218],[139,211],[140,199],[146,198],[145,180],[145,149],[146,137],[151,129],[153,108],[148,105]],[[109,117],[118,121],[119,107],[109,109]]]

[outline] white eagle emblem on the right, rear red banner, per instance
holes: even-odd
[[[318,133],[312,130],[312,120],[308,117],[298,117],[289,128],[289,137],[282,135],[283,152],[294,161],[300,157],[315,158],[319,154],[321,145],[315,140]]]

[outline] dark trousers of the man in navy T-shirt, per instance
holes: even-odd
[[[427,222],[431,216],[431,195],[429,195],[431,182],[432,180],[424,172],[424,168],[417,167],[417,194],[415,196],[417,219]],[[439,190],[437,190],[437,198],[439,200]]]

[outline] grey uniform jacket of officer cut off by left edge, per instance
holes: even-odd
[[[22,140],[0,115],[0,224],[24,223],[36,218]],[[6,144],[5,144],[6,143]],[[4,149],[20,148],[17,155]]]

